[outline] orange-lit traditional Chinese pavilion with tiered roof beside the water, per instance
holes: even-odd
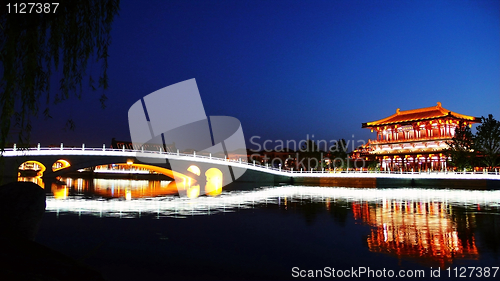
[[[459,114],[441,106],[405,110],[373,122],[362,128],[377,133],[359,152],[367,160],[378,160],[384,170],[443,170],[446,169],[448,148],[446,141],[453,138],[455,128],[463,122],[472,126],[479,117]]]

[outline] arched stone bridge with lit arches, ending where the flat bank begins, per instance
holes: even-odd
[[[2,153],[3,167],[0,172],[7,177],[16,177],[20,165],[36,163],[39,176],[55,178],[83,168],[128,164],[164,174],[178,181],[204,181],[207,172],[217,170],[223,186],[232,182],[291,183],[290,175],[284,171],[269,169],[242,159],[225,159],[162,151],[127,150],[112,148],[49,147],[29,149],[5,149]],[[211,170],[212,169],[212,170]]]

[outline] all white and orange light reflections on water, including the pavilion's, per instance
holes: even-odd
[[[47,212],[186,218],[252,208],[301,209],[304,214],[333,210],[352,213],[356,224],[370,226],[370,252],[441,267],[456,259],[479,259],[477,231],[487,233],[491,227],[493,239],[498,236],[498,227],[488,224],[499,221],[499,190],[277,186],[190,199],[177,196],[168,181],[63,180],[66,186],[52,184]]]

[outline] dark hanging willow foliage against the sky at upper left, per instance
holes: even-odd
[[[56,12],[19,13],[16,1],[0,7],[0,148],[14,128],[19,130],[17,142],[29,144],[30,119],[40,107],[49,117],[49,107],[82,95],[89,58],[102,67],[97,79],[89,75],[92,89],[108,88],[108,46],[113,18],[118,14],[119,0],[59,1]],[[18,5],[23,3],[18,2]],[[26,3],[26,2],[24,2]],[[5,4],[5,3],[4,3]],[[27,11],[25,9],[24,11]],[[61,70],[59,89],[51,90],[52,71]],[[106,96],[100,97],[104,107]]]

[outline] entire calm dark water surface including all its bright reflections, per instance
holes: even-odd
[[[37,242],[108,280],[297,279],[332,269],[336,279],[500,279],[500,191],[262,186],[188,199],[165,181],[63,181],[45,186]]]

